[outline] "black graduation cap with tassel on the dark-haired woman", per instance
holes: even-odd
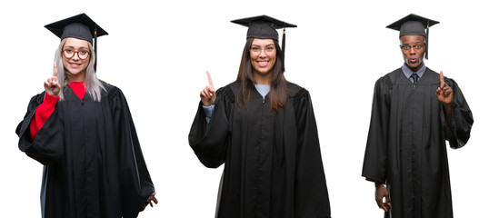
[[[246,39],[248,38],[273,39],[275,42],[278,42],[278,33],[275,29],[284,28],[284,34],[282,35],[283,59],[285,59],[285,28],[297,27],[297,25],[292,25],[267,15],[246,17],[242,19],[233,20],[231,21],[231,23],[237,25],[244,25],[248,27]],[[284,64],[282,70],[283,72],[285,71]]]

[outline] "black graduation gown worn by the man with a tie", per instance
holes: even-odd
[[[392,208],[385,217],[453,217],[445,140],[463,147],[474,119],[458,85],[444,81],[454,92],[451,125],[435,95],[440,74],[431,69],[416,85],[401,68],[375,84],[362,175],[387,184]]]

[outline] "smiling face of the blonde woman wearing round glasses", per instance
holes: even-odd
[[[61,56],[71,81],[85,81],[86,67],[91,56],[89,46],[85,40],[66,38]]]

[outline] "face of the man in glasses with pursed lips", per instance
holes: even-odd
[[[425,49],[423,35],[401,36],[401,51],[403,52],[404,63],[413,72],[417,72],[423,67]]]

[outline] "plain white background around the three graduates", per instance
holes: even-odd
[[[246,28],[229,21],[271,15],[287,29],[286,78],[313,99],[332,215],[382,217],[361,177],[374,82],[403,64],[398,32],[414,13],[430,31],[434,71],[454,78],[474,114],[468,144],[448,149],[455,217],[482,217],[489,201],[486,87],[489,15],[483,1],[9,1],[0,7],[0,211],[40,217],[42,165],[17,148],[15,127],[52,74],[59,39],[44,25],[85,12],[99,38],[100,79],[127,98],[160,201],[139,217],[214,217],[223,166],[207,169],[187,135],[207,84],[235,80]]]

